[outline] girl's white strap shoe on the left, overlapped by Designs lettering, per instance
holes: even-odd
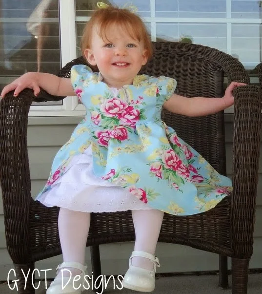
[[[80,270],[81,273],[76,275],[76,279],[74,281],[74,276],[70,277],[70,274],[69,276],[65,276],[65,273],[68,273],[69,270],[64,270],[65,273],[62,273],[61,277],[56,277],[50,284],[46,294],[81,294],[81,292],[85,290],[83,284],[87,266],[82,265],[79,262],[66,261],[57,267],[57,274],[64,268],[75,268]]]

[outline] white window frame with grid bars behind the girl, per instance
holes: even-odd
[[[75,16],[74,0],[59,0],[60,2],[60,50],[61,66],[72,61],[77,57],[76,42],[76,23],[85,22],[90,17]],[[226,18],[158,18],[155,11],[155,0],[150,0],[151,15],[143,17],[146,22],[151,22],[151,40],[156,41],[157,22],[177,22],[177,23],[226,23],[227,31],[227,53],[232,52],[232,23],[257,23],[261,24],[260,19],[232,19],[231,0],[226,0]],[[72,29],[74,28],[74,29]],[[225,113],[233,113],[233,106],[225,109]],[[78,103],[77,97],[66,97],[63,105],[32,105],[29,116],[84,116],[85,109]]]

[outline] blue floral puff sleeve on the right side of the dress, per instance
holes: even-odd
[[[172,78],[160,76],[158,78],[157,105],[162,106],[173,94],[177,81]]]

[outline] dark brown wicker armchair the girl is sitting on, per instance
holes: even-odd
[[[159,242],[183,244],[220,254],[222,288],[228,286],[227,256],[232,257],[232,293],[246,294],[249,259],[253,252],[253,231],[260,153],[260,88],[249,84],[242,64],[216,49],[196,44],[155,42],[154,58],[141,70],[154,76],[176,78],[179,94],[188,97],[222,97],[223,78],[246,83],[234,91],[233,193],[217,207],[192,216],[164,215]],[[78,58],[60,71],[70,77]],[[33,101],[57,101],[41,91],[39,97],[25,89],[19,97],[7,94],[0,104],[0,184],[2,189],[8,252],[13,260],[20,294],[24,289],[23,269],[34,269],[36,261],[61,254],[58,208],[46,208],[31,198],[27,154],[27,119]],[[220,173],[226,174],[224,114],[200,118],[162,112],[162,118],[178,135],[200,152]],[[99,245],[134,241],[130,212],[92,213],[87,246],[91,246],[94,278],[101,273]]]

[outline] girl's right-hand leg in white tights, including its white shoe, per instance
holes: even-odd
[[[156,267],[160,266],[155,251],[163,215],[160,210],[132,211],[136,242],[129,259],[129,269],[122,282],[123,287],[140,292],[152,292],[155,289]]]

